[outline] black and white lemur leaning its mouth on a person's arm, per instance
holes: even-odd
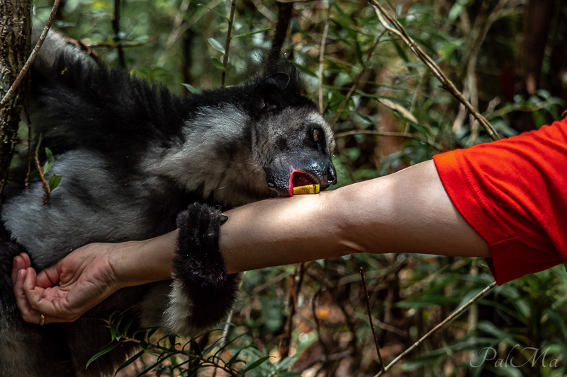
[[[178,97],[97,66],[51,33],[31,75],[33,135],[43,135],[41,145],[55,154],[50,173],[63,178],[44,206],[41,182],[28,192],[11,182],[5,192],[2,377],[110,373],[132,349],[114,349],[88,369],[86,361],[110,340],[101,318],[132,306],[137,327],[186,335],[215,325],[235,300],[237,280],[218,251],[221,209],[336,181],[332,131],[288,62],[266,62],[240,86]],[[40,270],[86,243],[177,227],[171,282],[121,289],[74,323],[21,319],[10,279],[17,253],[29,253]]]

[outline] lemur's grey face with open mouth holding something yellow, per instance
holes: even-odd
[[[314,108],[289,107],[260,120],[256,145],[266,185],[281,197],[292,196],[293,187],[316,184],[325,190],[337,182],[335,140]]]

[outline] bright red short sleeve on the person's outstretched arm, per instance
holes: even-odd
[[[567,118],[433,160],[498,284],[567,261]]]

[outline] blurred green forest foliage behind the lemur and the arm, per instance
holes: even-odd
[[[381,4],[501,137],[559,119],[567,99],[563,1]],[[35,23],[45,22],[51,5],[35,2]],[[226,54],[230,8],[231,1],[219,0],[66,0],[55,27],[101,64],[186,95],[220,86],[223,76],[226,85],[239,83],[248,62],[283,40],[283,52],[298,64],[308,94],[322,101],[335,130],[339,185],[490,141],[408,47],[384,32],[366,1],[235,1]],[[218,364],[242,374],[249,369],[249,376],[374,376],[380,368],[359,267],[366,271],[385,364],[493,281],[482,260],[427,255],[353,255],[248,272],[228,333],[233,342],[219,349],[221,331],[188,344],[153,335],[125,371],[152,371],[163,359],[151,373],[194,376],[201,368],[209,376]],[[566,286],[565,267],[558,266],[493,289],[390,375],[566,375]],[[127,322],[127,313],[120,323],[115,318],[113,337]],[[176,343],[186,344],[189,359],[181,347],[172,348]],[[152,361],[145,351],[161,356]],[[481,364],[474,359],[479,352],[492,360]],[[512,357],[522,366],[510,366]]]

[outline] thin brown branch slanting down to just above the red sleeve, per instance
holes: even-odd
[[[395,35],[398,35],[398,37],[400,37],[400,39],[403,40],[403,42],[405,42],[405,44],[410,47],[410,50],[412,50],[412,52],[414,52],[414,54],[416,54],[417,57],[422,62],[425,63],[425,66],[427,66],[427,69],[429,69],[432,72],[432,74],[434,74],[434,76],[442,83],[443,88],[447,92],[449,92],[451,95],[453,95],[454,98],[459,100],[459,102],[462,103],[465,106],[466,110],[468,110],[468,112],[471,115],[473,115],[473,117],[480,124],[482,124],[482,126],[485,129],[485,132],[488,134],[488,136],[490,138],[492,138],[493,140],[500,139],[500,137],[498,137],[498,134],[496,133],[495,129],[492,127],[492,124],[490,124],[488,122],[488,120],[485,119],[485,117],[483,117],[480,113],[478,113],[478,111],[476,111],[473,108],[471,103],[468,103],[468,100],[466,100],[466,98],[464,98],[464,96],[461,94],[461,92],[459,92],[457,90],[457,88],[454,86],[454,83],[452,83],[451,80],[449,80],[449,78],[444,74],[444,72],[439,68],[439,66],[433,61],[433,59],[429,55],[427,55],[421,49],[421,47],[419,47],[415,43],[414,40],[412,40],[412,38],[408,35],[408,33],[406,33],[403,26],[400,25],[400,23],[398,23],[398,21],[396,21],[395,18],[390,16],[388,14],[388,12],[386,12],[384,10],[384,8],[382,8],[382,6],[380,4],[378,4],[378,1],[369,0],[369,2],[372,6],[374,6],[374,11],[376,11],[376,16],[378,16],[378,20],[383,25],[383,27],[386,28],[386,30],[388,30],[389,32],[391,32]]]

